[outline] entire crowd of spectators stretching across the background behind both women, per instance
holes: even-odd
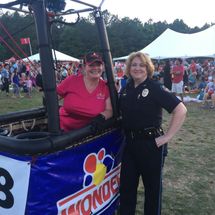
[[[211,101],[210,108],[215,107],[215,61],[204,60],[163,60],[154,61],[153,78],[158,80],[167,90],[181,98],[186,93],[198,94],[197,99],[203,101],[203,106]],[[82,74],[84,64],[78,62],[59,62],[56,66],[56,83],[60,83],[70,75]],[[120,90],[127,80],[126,64],[115,62],[114,74],[116,85]],[[179,72],[180,71],[180,72]],[[179,73],[179,74],[177,74]],[[37,76],[41,76],[40,62],[0,62],[0,89],[13,98],[32,97],[32,90],[39,89],[36,84]],[[210,83],[210,84],[209,84]],[[23,93],[22,93],[23,92]]]

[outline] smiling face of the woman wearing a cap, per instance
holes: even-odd
[[[88,78],[99,79],[103,73],[103,64],[101,62],[86,64],[85,72]]]

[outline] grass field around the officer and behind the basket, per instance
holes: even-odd
[[[42,94],[14,99],[0,93],[0,114],[41,106]],[[188,103],[187,119],[169,143],[163,174],[163,215],[215,215],[215,110]],[[164,113],[164,128],[169,115]],[[137,215],[143,214],[142,184]]]

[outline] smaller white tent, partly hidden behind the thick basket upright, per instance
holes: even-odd
[[[77,58],[71,57],[71,56],[66,55],[66,54],[64,54],[62,52],[59,52],[57,50],[55,50],[55,54],[56,54],[56,58],[57,58],[58,61],[77,61],[77,62],[80,61]],[[53,59],[55,59],[55,55],[54,55],[54,50],[53,49],[52,49],[52,56],[53,56]],[[37,53],[37,54],[31,55],[28,58],[24,58],[23,60],[24,61],[28,61],[28,59],[31,60],[31,61],[34,61],[34,60],[35,61],[39,61],[40,60],[40,55],[39,55],[39,53]]]

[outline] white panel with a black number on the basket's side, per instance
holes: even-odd
[[[0,155],[0,214],[25,214],[30,162]]]

